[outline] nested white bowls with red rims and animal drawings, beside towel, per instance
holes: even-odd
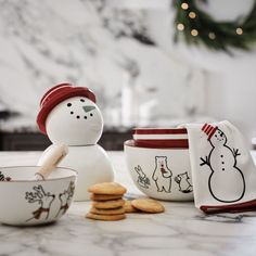
[[[187,129],[136,128],[124,143],[127,168],[148,196],[192,201],[193,185]]]

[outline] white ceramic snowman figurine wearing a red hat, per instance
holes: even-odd
[[[103,118],[91,90],[69,84],[53,87],[41,99],[37,124],[52,142],[38,165],[43,163],[56,145],[68,146],[67,155],[57,166],[78,171],[76,201],[89,200],[89,185],[113,181],[110,158],[97,144],[102,135]]]

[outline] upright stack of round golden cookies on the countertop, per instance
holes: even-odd
[[[103,182],[88,188],[92,206],[87,218],[98,220],[120,220],[126,218],[123,195],[126,188],[116,182]]]

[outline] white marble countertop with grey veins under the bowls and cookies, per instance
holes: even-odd
[[[123,152],[108,152],[116,181],[129,196],[142,195],[126,171]],[[33,165],[40,152],[0,152],[0,165]],[[253,152],[254,158],[256,154]],[[90,202],[75,202],[57,222],[42,227],[0,226],[0,255],[213,256],[255,255],[256,213],[205,216],[193,203],[163,202],[164,214],[129,214],[121,221],[94,221]]]

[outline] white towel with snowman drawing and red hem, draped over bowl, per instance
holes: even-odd
[[[256,210],[256,168],[229,121],[185,125],[195,206],[206,214]]]

